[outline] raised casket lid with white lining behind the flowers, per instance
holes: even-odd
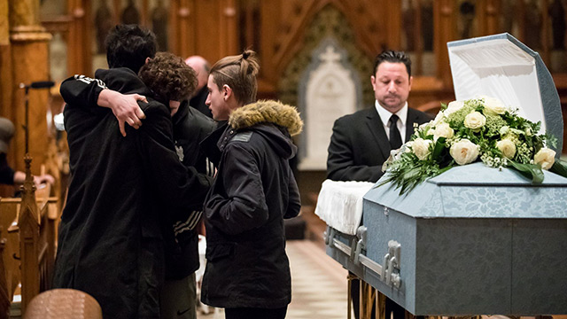
[[[447,43],[454,96],[498,97],[530,121],[541,121],[540,133],[557,138],[563,149],[563,114],[555,82],[540,54],[508,33]],[[551,146],[551,145],[549,145]],[[553,147],[552,147],[553,148]]]

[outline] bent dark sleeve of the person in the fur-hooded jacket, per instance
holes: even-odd
[[[221,231],[236,235],[268,221],[258,163],[252,152],[239,144],[225,149],[212,194],[205,203],[207,221]],[[219,186],[220,185],[220,186]],[[218,189],[217,189],[218,188]]]

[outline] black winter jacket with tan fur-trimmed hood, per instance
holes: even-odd
[[[211,144],[220,152],[205,204],[201,300],[207,305],[278,308],[291,302],[283,218],[299,214],[289,159],[297,151],[291,135],[302,125],[295,108],[260,101],[234,111],[219,128],[218,142],[215,134],[203,142],[207,152],[214,151]]]

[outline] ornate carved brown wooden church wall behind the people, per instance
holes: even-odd
[[[14,55],[21,54],[13,40],[18,33],[13,20],[29,17],[14,9],[14,4],[20,2],[9,3],[10,6],[0,6],[0,14],[11,21],[9,25],[0,23],[0,115],[21,124],[17,110],[23,101],[14,81],[29,71],[22,72],[19,68],[25,66],[12,63]],[[408,103],[431,113],[439,110],[441,102],[454,99],[447,42],[509,32],[540,53],[554,77],[563,114],[567,113],[565,0],[26,0],[21,3],[38,4],[39,21],[28,24],[43,27],[43,32],[50,34],[49,51],[39,57],[48,61],[49,72],[42,75],[46,77],[43,80],[56,83],[46,96],[30,101],[44,110],[32,115],[34,123],[39,123],[34,117],[44,121],[44,113],[60,112],[63,101],[57,86],[67,76],[92,75],[98,67],[106,67],[105,33],[120,22],[137,22],[151,28],[163,50],[183,58],[198,54],[214,62],[252,48],[258,51],[261,62],[258,96],[281,99],[291,105],[299,105],[302,72],[310,62],[310,53],[323,38],[330,36],[339,43],[346,52],[345,61],[360,79],[359,108],[372,103],[369,76],[377,53],[386,48],[407,51],[413,59],[414,76]],[[35,49],[24,50],[27,52],[23,55],[31,56]],[[46,112],[48,109],[50,112]],[[64,136],[50,129],[51,126],[40,128],[42,132],[38,134],[52,136],[53,144],[58,145],[58,138]],[[51,143],[38,138],[40,144]],[[18,167],[23,162],[18,160],[23,155],[23,146],[21,137],[16,136],[15,141],[18,143],[12,145],[10,161]],[[47,149],[35,148],[39,152]],[[563,153],[566,152],[564,146]],[[41,153],[36,156],[40,161],[43,159]],[[316,169],[299,171],[299,175],[324,176]],[[307,183],[306,190],[314,191],[321,182],[320,178],[303,180]]]

